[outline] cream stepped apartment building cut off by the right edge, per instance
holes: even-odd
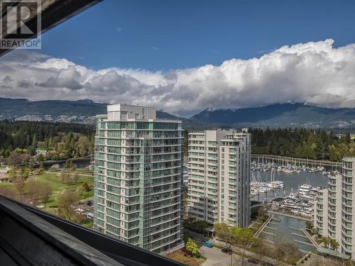
[[[342,173],[329,174],[328,188],[315,199],[313,223],[318,233],[337,240],[338,251],[355,257],[355,157],[344,157]],[[354,220],[354,221],[353,221]]]

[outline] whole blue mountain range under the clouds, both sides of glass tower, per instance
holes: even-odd
[[[29,101],[0,98],[0,119],[94,123],[107,112],[107,104],[78,101]],[[205,109],[191,118],[157,111],[158,118],[180,119],[187,130],[230,127],[355,128],[355,109],[327,109],[307,104],[273,104],[242,109]]]

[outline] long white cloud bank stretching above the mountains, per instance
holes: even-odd
[[[126,102],[180,115],[290,101],[355,107],[355,45],[332,44],[300,43],[259,58],[170,72],[89,70],[66,59],[19,50],[0,59],[0,96]]]

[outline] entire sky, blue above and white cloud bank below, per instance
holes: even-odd
[[[355,108],[354,14],[346,0],[104,0],[45,33],[43,50],[1,57],[0,94],[180,116],[288,102]]]

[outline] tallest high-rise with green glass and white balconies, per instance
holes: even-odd
[[[163,253],[181,243],[181,121],[116,104],[97,116],[94,228]]]

